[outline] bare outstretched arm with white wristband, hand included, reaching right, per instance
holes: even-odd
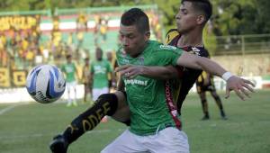
[[[222,77],[227,82],[226,98],[229,97],[229,93],[232,90],[235,91],[235,93],[238,94],[238,97],[240,97],[242,100],[245,100],[246,96],[249,97],[248,91],[254,92],[252,86],[255,85],[253,83],[247,79],[230,74],[223,67],[209,58],[202,58],[187,52],[183,52],[183,54],[177,59],[177,65],[203,69],[212,75]]]

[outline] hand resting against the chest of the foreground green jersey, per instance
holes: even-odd
[[[124,76],[130,79],[130,78],[134,78],[136,76],[141,75],[143,72],[143,67],[124,65],[124,66],[115,68],[115,72],[119,72],[121,76]]]

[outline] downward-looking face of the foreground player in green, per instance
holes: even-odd
[[[136,25],[120,25],[120,41],[124,51],[131,57],[137,57],[148,40],[149,32],[141,33]]]

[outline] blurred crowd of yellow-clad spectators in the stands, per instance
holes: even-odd
[[[85,49],[83,45],[85,32],[93,32],[94,48],[103,46],[110,39],[117,39],[108,38],[110,16],[92,15],[95,22],[93,29],[89,29],[87,25],[90,21],[89,16],[84,13],[77,14],[74,31],[61,31],[59,28],[61,19],[58,15],[52,17],[51,31],[40,31],[40,16],[31,27],[14,26],[7,31],[0,30],[0,67],[29,70],[41,63],[60,65],[67,54],[72,54],[77,61],[89,58],[90,52],[94,50]],[[161,40],[158,16],[150,14],[149,17],[152,33],[157,40]],[[63,38],[64,33],[66,39]]]

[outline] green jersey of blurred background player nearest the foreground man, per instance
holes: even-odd
[[[108,73],[112,72],[112,67],[108,60],[94,61],[91,64],[93,74],[93,88],[103,88],[109,86]]]

